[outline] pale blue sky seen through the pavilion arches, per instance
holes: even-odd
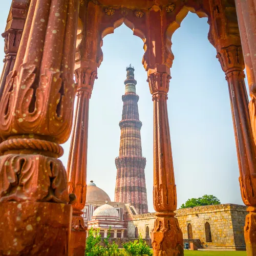
[[[4,32],[11,0],[1,3],[0,31]],[[178,206],[188,198],[204,194],[221,203],[243,204],[239,169],[224,72],[216,50],[207,39],[207,18],[189,13],[173,35],[175,55],[168,94],[168,117],[172,140]],[[4,58],[0,39],[0,58]],[[125,25],[103,39],[103,62],[90,100],[87,180],[114,200],[115,158],[119,152],[123,81],[126,66],[135,67],[139,114],[142,121],[142,152],[148,210],[154,211],[153,188],[153,101],[141,64],[143,42]],[[3,64],[0,64],[2,70]],[[70,141],[61,158],[67,166]],[[79,156],[78,156],[79,157]]]

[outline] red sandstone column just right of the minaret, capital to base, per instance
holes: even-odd
[[[168,70],[168,69],[166,69]],[[183,237],[174,211],[177,209],[176,185],[167,114],[170,75],[149,73],[148,82],[154,102],[154,208],[152,232],[154,255],[184,255]]]

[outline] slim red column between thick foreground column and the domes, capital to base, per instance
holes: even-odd
[[[71,140],[68,162],[69,193],[74,193],[77,201],[73,206],[71,254],[84,255],[87,226],[83,221],[83,208],[86,205],[86,174],[88,146],[89,100],[97,72],[90,68],[79,68],[75,71],[77,104],[75,123]]]

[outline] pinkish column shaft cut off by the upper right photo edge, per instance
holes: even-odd
[[[256,5],[253,0],[235,0],[239,31],[250,92],[250,120],[256,144]]]

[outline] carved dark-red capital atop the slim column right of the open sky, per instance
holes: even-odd
[[[218,51],[216,57],[219,59],[221,68],[226,75],[232,71],[243,71],[245,68],[241,45],[223,47]]]

